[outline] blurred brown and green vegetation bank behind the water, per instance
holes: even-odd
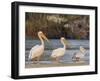
[[[50,38],[89,39],[89,16],[29,13],[25,15],[26,37],[37,39],[37,32]]]

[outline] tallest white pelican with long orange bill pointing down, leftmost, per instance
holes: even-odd
[[[39,62],[40,57],[43,55],[44,52],[44,40],[49,41],[47,39],[47,37],[42,33],[42,31],[38,32],[38,37],[41,41],[41,45],[35,45],[31,48],[30,52],[29,52],[29,59],[31,60],[36,60],[37,62]]]

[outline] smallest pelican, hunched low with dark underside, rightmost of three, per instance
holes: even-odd
[[[72,60],[75,62],[79,62],[80,60],[84,59],[85,54],[86,49],[80,46],[80,50],[73,55]]]

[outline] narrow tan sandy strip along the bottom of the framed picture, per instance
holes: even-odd
[[[79,62],[79,63],[51,63],[51,64],[46,64],[46,63],[39,63],[39,64],[25,64],[25,68],[41,68],[41,67],[62,67],[62,66],[83,66],[83,65],[89,65],[84,62]]]

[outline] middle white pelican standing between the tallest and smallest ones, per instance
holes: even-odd
[[[55,59],[56,63],[58,63],[60,61],[60,58],[64,56],[66,51],[66,44],[68,44],[67,40],[65,40],[64,37],[61,37],[60,41],[63,44],[63,47],[53,50],[51,54],[51,58]]]

